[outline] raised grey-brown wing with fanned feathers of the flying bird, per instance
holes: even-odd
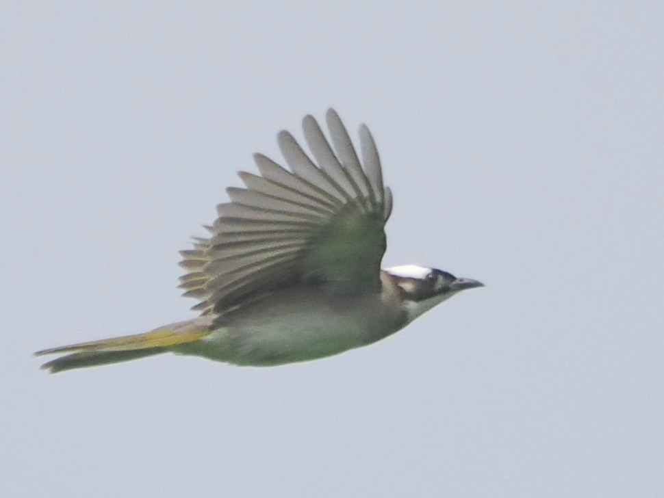
[[[314,160],[281,131],[279,148],[291,171],[256,154],[261,176],[240,172],[246,188],[227,189],[231,202],[218,205],[218,218],[207,227],[212,235],[181,251],[189,273],[180,287],[201,301],[193,309],[224,313],[307,283],[380,290],[392,194],[383,187],[369,129],[359,130],[360,162],[337,113],[329,109],[326,117],[330,142],[313,117],[303,120]]]

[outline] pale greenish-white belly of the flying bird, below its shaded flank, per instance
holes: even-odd
[[[282,365],[358,348],[395,331],[382,306],[359,304],[289,306],[281,300],[279,306],[257,306],[177,352],[235,365]]]

